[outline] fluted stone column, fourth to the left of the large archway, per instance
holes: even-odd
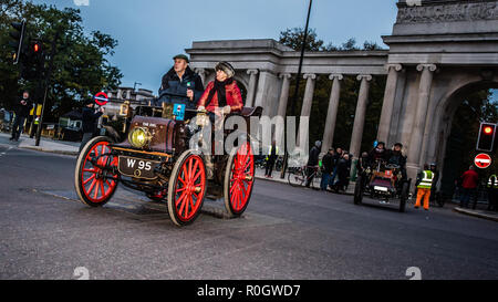
[[[330,92],[329,110],[326,111],[325,129],[323,131],[322,153],[329,152],[332,147],[335,131],[335,121],[338,119],[339,97],[341,95],[342,74],[331,74],[332,90]]]

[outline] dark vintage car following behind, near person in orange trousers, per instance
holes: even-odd
[[[382,204],[398,200],[398,209],[405,211],[412,179],[403,179],[398,165],[376,160],[372,166],[361,171],[354,187],[354,204],[363,202],[363,196],[380,199]]]

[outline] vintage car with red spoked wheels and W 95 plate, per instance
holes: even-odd
[[[74,184],[81,201],[103,206],[121,184],[153,200],[165,200],[177,226],[197,218],[206,196],[224,198],[229,216],[239,217],[255,184],[253,152],[247,134],[250,129],[246,142],[230,153],[204,154],[189,148],[189,140],[205,125],[191,126],[189,122],[195,116],[207,117],[206,112],[185,110],[184,121],[179,121],[173,111],[173,105],[166,103],[135,108],[129,103],[122,105],[121,114],[126,119],[123,128],[107,128],[108,135],[94,137],[77,157]],[[261,113],[261,107],[243,107],[236,114],[249,122]],[[120,131],[126,134],[123,142]],[[225,138],[229,134],[224,131]]]

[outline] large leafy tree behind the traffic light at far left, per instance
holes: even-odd
[[[111,65],[107,58],[114,54],[117,41],[100,31],[85,33],[80,10],[59,10],[53,6],[33,4],[21,0],[4,0],[0,6],[0,102],[12,107],[21,90],[35,91],[35,101],[41,103],[40,80],[18,81],[19,71],[12,64],[8,46],[10,22],[27,20],[31,39],[43,41],[44,53],[50,54],[56,32],[54,67],[48,94],[45,121],[81,106],[82,101],[101,90],[116,88],[122,74]],[[46,67],[46,65],[45,65]],[[3,84],[6,83],[6,84]]]

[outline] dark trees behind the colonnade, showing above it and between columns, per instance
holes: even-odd
[[[304,30],[301,28],[287,29],[280,32],[279,41],[293,50],[300,50]],[[307,51],[357,51],[357,50],[381,50],[374,42],[364,42],[363,49],[356,45],[356,40],[351,38],[341,46],[333,43],[325,43],[318,38],[314,29],[310,29],[307,39]],[[385,76],[374,76],[370,85],[369,105],[365,116],[365,127],[363,132],[362,150],[370,150],[377,135],[377,126],[384,97]],[[294,83],[290,91],[294,91]],[[326,74],[319,74],[317,77],[313,102],[311,106],[310,118],[310,142],[321,140],[325,129],[326,112],[332,87],[332,81]],[[295,114],[300,114],[302,100],[304,95],[305,81],[300,79],[300,90],[295,104]],[[335,147],[347,149],[351,143],[353,132],[354,114],[356,111],[357,94],[360,81],[356,75],[346,75],[341,84],[341,96],[338,108],[338,119],[335,123],[334,142]],[[292,97],[292,95],[290,95]],[[291,102],[288,105],[288,112],[291,113]],[[359,156],[355,154],[354,156]]]

